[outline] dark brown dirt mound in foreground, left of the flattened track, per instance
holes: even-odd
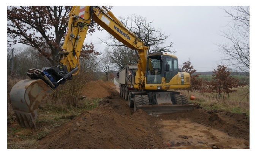
[[[137,112],[143,122],[121,115],[117,92],[105,98],[95,110],[84,112],[66,126],[57,128],[41,140],[41,149],[154,149],[163,148],[154,121],[147,113]],[[133,117],[137,117],[135,114]],[[49,143],[50,142],[50,143]]]

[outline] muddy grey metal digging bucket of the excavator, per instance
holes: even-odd
[[[45,95],[54,93],[42,79],[25,79],[17,82],[10,92],[13,110],[19,125],[36,127],[37,109]]]

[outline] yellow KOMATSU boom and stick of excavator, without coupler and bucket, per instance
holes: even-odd
[[[103,8],[98,6],[73,6],[69,16],[64,45],[62,51],[55,58],[60,64],[66,65],[68,71],[74,67],[79,67],[78,59],[88,27],[96,22],[124,45],[137,51],[139,68],[145,73],[145,55],[147,55],[149,47],[145,46],[138,37],[131,33],[111,11],[108,11],[104,6]]]

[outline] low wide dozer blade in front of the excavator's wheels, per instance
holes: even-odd
[[[173,112],[181,112],[184,110],[192,110],[193,104],[183,104],[183,105],[146,105],[137,106],[137,109],[142,109],[149,115],[163,115]]]

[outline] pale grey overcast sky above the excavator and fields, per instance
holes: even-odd
[[[231,18],[223,9],[230,6],[114,6],[111,10],[119,18],[136,14],[146,17],[152,26],[170,35],[167,43],[174,42],[179,65],[190,59],[197,71],[213,71],[221,63],[221,55],[216,44],[225,39],[221,31],[227,29]],[[107,36],[106,31],[97,31],[87,36],[86,42],[93,42],[96,49],[103,52],[106,45],[99,39]]]

